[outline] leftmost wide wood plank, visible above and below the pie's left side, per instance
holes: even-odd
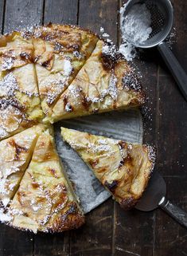
[[[2,1],[1,1],[2,2]],[[21,29],[41,21],[42,0],[6,1],[3,32]],[[1,225],[0,255],[33,256],[33,234]]]

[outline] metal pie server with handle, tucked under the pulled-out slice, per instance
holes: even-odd
[[[153,211],[158,207],[161,207],[173,219],[187,228],[187,213],[166,199],[165,180],[157,171],[154,171],[146,191],[135,208],[140,211]]]

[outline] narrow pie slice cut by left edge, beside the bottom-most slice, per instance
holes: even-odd
[[[0,208],[13,198],[44,130],[45,125],[38,124],[0,142]]]

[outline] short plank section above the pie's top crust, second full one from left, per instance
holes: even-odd
[[[46,0],[44,22],[76,25],[78,0]]]

